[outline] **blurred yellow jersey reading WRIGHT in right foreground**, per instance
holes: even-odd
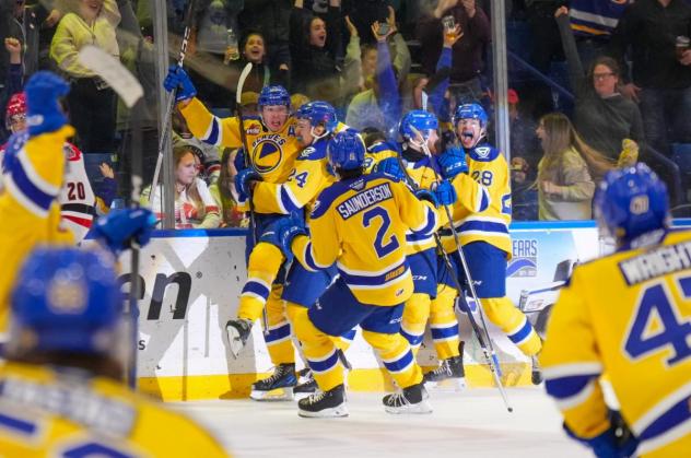
[[[607,373],[637,454],[682,457],[691,451],[691,232],[660,236],[575,268],[540,362],[577,436],[609,427],[597,381]]]

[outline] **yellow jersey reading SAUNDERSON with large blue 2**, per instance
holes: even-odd
[[[406,231],[428,234],[438,226],[436,210],[402,183],[382,175],[338,181],[325,189],[311,215],[309,233],[292,249],[308,270],[336,262],[363,304],[402,304],[413,290],[406,260]]]

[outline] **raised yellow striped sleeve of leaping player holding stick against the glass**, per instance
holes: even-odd
[[[204,143],[225,148],[243,145],[239,137],[239,120],[236,117],[219,118],[196,97],[187,105],[180,105],[180,113],[187,121],[189,131]]]

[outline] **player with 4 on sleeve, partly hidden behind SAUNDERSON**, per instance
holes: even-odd
[[[326,102],[309,102],[300,107],[295,118],[295,133],[304,149],[297,156],[295,168],[288,180],[265,181],[251,168],[242,171],[236,177],[239,191],[253,196],[257,212],[302,215],[311,210],[319,192],[336,179],[328,172],[326,158],[326,149],[331,137],[344,128],[338,122],[336,109]],[[273,245],[271,247],[273,248]],[[291,265],[281,301],[267,303],[269,332],[265,336],[265,341],[276,371],[270,377],[253,385],[253,399],[292,399],[292,387],[295,387],[296,392],[306,388],[295,386],[295,350],[288,318],[311,307],[326,291],[335,275],[335,267],[308,272],[298,262]],[[238,330],[241,342],[249,336],[250,324],[243,321],[242,316],[229,325]],[[276,391],[279,388],[282,392]]]

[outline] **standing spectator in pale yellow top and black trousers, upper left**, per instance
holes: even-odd
[[[78,54],[82,47],[95,45],[119,58],[115,36],[119,22],[115,0],[79,0],[77,11],[60,20],[50,44],[50,57],[71,82],[70,119],[85,155],[114,152],[116,96],[105,81],[79,62]]]

